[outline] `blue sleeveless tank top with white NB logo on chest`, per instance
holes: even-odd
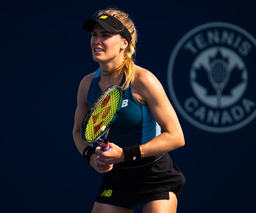
[[[87,95],[89,106],[102,93],[99,89],[100,74],[101,71],[98,69],[91,82]],[[123,85],[124,81],[125,77],[123,77],[120,85]],[[132,86],[130,85],[123,90],[123,104],[117,119],[110,129],[109,142],[123,148],[136,144],[145,144],[160,134],[161,128],[151,115],[149,108],[141,105],[134,98]]]

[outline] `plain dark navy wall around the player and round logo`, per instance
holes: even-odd
[[[82,24],[108,6],[134,20],[136,63],[155,74],[169,98],[169,57],[189,30],[221,21],[256,37],[255,10],[245,1],[2,3],[1,212],[91,212],[102,175],[83,160],[72,130],[79,83],[98,68]],[[170,152],[186,177],[177,212],[253,211],[256,119],[217,134],[177,115],[186,141]]]

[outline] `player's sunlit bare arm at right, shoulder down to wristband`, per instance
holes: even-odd
[[[155,156],[185,145],[177,115],[158,79],[149,71],[139,77],[140,95],[163,132],[140,145],[143,157]]]

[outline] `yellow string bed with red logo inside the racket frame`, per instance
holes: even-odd
[[[109,98],[110,96],[110,98]],[[88,120],[85,130],[85,138],[88,141],[98,138],[109,126],[115,116],[120,101],[120,90],[111,91],[95,108]],[[109,99],[107,104],[105,102]],[[102,107],[103,106],[103,107]],[[95,132],[95,129],[97,130]]]

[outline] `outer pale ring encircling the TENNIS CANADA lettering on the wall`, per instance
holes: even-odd
[[[176,59],[176,56],[180,50],[180,48],[182,47],[182,45],[185,43],[185,41],[191,37],[193,34],[195,34],[196,32],[200,31],[200,30],[204,30],[205,28],[210,28],[210,27],[226,27],[226,28],[230,28],[233,30],[236,30],[238,32],[240,32],[241,34],[245,35],[248,39],[251,40],[251,42],[255,45],[256,47],[256,40],[255,38],[246,30],[242,29],[241,27],[238,27],[234,24],[230,24],[230,23],[226,23],[226,22],[210,22],[210,23],[206,23],[206,24],[201,24],[195,28],[193,28],[192,30],[190,30],[189,32],[187,32],[176,44],[176,46],[173,49],[173,52],[171,53],[169,62],[168,62],[168,68],[167,68],[167,86],[169,89],[169,93],[171,95],[171,98],[173,99],[174,104],[176,105],[178,111],[181,113],[181,115],[189,122],[191,123],[193,126],[208,131],[208,132],[231,132],[234,130],[237,130],[243,126],[245,126],[246,124],[250,123],[256,116],[256,109],[254,110],[254,112],[251,113],[251,115],[249,115],[249,117],[247,117],[246,119],[244,119],[242,122],[237,123],[235,125],[229,126],[229,127],[209,127],[206,126],[204,124],[199,123],[197,120],[194,120],[193,118],[191,118],[190,115],[188,115],[186,113],[185,110],[183,110],[183,107],[179,104],[179,101],[174,93],[174,88],[173,88],[173,84],[172,84],[172,74],[173,74],[173,65],[174,65],[174,61]],[[170,82],[170,83],[169,83]],[[169,85],[170,84],[170,85]]]

